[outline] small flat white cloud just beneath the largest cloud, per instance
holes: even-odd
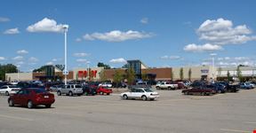
[[[211,43],[205,43],[204,45],[196,45],[195,43],[191,43],[186,45],[183,48],[184,51],[220,51],[222,50],[220,45],[215,45]]]

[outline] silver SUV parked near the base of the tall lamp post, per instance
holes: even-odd
[[[68,84],[57,90],[57,95],[66,94],[67,96],[81,96],[83,94],[83,87],[79,84]]]

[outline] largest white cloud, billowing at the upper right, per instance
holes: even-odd
[[[233,27],[231,20],[205,20],[197,29],[200,40],[214,44],[236,44],[256,40],[246,25]]]

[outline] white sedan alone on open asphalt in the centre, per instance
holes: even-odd
[[[158,92],[153,91],[150,88],[135,88],[131,89],[129,92],[121,93],[120,97],[123,99],[139,98],[142,100],[155,100],[156,98],[159,98],[159,94]]]

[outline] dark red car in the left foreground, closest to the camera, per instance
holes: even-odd
[[[28,106],[28,108],[39,105],[50,108],[54,101],[52,93],[40,88],[22,89],[8,98],[9,106],[20,105]]]

